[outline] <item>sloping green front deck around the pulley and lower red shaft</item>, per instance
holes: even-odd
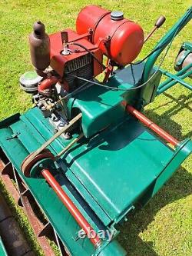
[[[26,178],[20,170],[25,157],[53,135],[51,125],[41,115],[41,111],[38,108],[32,108],[25,115],[15,115],[5,119],[5,121],[0,123],[0,128],[0,146],[2,150],[18,171],[22,180],[28,185],[31,193],[41,206],[42,211],[45,212],[48,220],[57,231],[61,241],[64,242],[71,255],[99,255],[102,247],[98,251],[95,251],[94,246],[88,238],[76,241],[77,233],[81,228],[45,180],[43,178]],[[15,136],[16,134],[18,136]],[[65,144],[68,144],[68,141],[59,138],[51,144],[49,149],[56,154]],[[65,175],[63,175],[64,172],[64,170],[58,169],[58,175],[55,177],[61,187],[96,231],[98,231],[98,228],[104,229],[104,225],[97,220],[97,216],[93,219],[90,217],[86,209],[86,207],[88,208],[88,203],[71,186]],[[115,247],[117,247],[116,250],[120,248],[119,251],[124,251],[118,243],[115,244]],[[108,248],[112,247],[112,250],[114,250],[114,244],[103,243],[103,247],[105,248],[106,246]],[[125,255],[125,252],[122,255]]]

